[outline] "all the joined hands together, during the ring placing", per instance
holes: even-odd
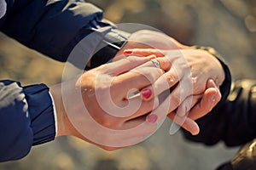
[[[137,31],[112,63],[50,87],[57,136],[74,135],[115,150],[143,141],[166,116],[197,134],[195,120],[218,103],[223,81],[222,66],[206,51],[160,32]]]

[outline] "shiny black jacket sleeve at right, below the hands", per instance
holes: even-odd
[[[233,83],[228,99],[219,103],[207,116],[198,121],[201,132],[187,139],[204,144],[224,141],[228,146],[246,144],[256,137],[256,81],[239,80]]]

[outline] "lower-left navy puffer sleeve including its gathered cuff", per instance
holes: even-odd
[[[32,145],[55,139],[55,118],[49,88],[22,88],[19,82],[0,81],[0,161],[26,156]]]

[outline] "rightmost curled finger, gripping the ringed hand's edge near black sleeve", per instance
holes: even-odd
[[[208,112],[212,111],[212,108],[218,104],[220,99],[221,93],[218,87],[212,80],[207,81],[207,90],[203,94],[201,101],[189,111],[189,117],[196,120],[205,116]]]

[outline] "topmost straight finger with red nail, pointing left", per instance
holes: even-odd
[[[125,49],[124,50],[125,55],[138,55],[138,56],[148,56],[150,54],[156,55],[156,57],[162,57],[164,54],[160,52],[159,49],[154,48],[133,48],[133,49]]]

